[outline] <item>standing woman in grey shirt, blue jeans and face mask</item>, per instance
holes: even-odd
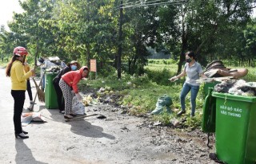
[[[187,75],[187,76],[186,76]],[[199,91],[199,83],[196,80],[199,79],[200,76],[206,77],[203,73],[201,64],[195,61],[194,52],[190,51],[186,53],[186,64],[184,70],[178,75],[170,78],[170,81],[175,81],[181,78],[182,76],[186,76],[186,81],[183,84],[180,100],[182,111],[178,112],[178,116],[186,113],[185,100],[186,95],[190,92],[190,103],[191,103],[191,114],[190,116],[194,116],[195,107],[196,107],[196,97],[198,96]]]

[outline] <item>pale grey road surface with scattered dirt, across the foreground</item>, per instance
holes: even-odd
[[[40,112],[46,123],[30,123],[23,127],[30,138],[15,139],[10,78],[4,73],[0,68],[0,163],[215,163],[209,158],[214,147],[206,146],[207,135],[201,131],[156,126],[106,103],[86,107],[87,115],[100,113],[106,119],[92,116],[65,122],[58,109],[46,109],[37,100],[34,111]],[[33,87],[32,80],[31,84]],[[35,94],[35,88],[32,90]],[[214,146],[214,141],[210,145]]]

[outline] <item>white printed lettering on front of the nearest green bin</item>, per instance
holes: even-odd
[[[229,115],[230,117],[238,117],[238,118],[242,116],[242,108],[240,107],[220,105],[219,108],[221,110],[222,115]]]

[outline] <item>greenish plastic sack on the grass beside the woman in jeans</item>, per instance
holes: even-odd
[[[154,108],[154,111],[151,111],[151,114],[153,115],[160,114],[163,111],[164,107],[166,107],[166,111],[168,113],[171,113],[172,111],[170,109],[170,105],[172,104],[173,104],[173,101],[171,100],[170,96],[166,96],[166,95],[161,96],[158,98],[158,102],[155,104],[156,107]]]

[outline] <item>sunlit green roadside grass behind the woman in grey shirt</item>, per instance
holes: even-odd
[[[162,60],[150,61],[145,67],[146,75],[144,76],[130,76],[126,73],[122,73],[122,79],[117,80],[117,74],[114,72],[106,78],[98,78],[97,80],[86,81],[87,87],[99,89],[99,88],[111,88],[111,93],[107,94],[119,94],[122,95],[118,100],[118,104],[130,107],[129,112],[131,115],[142,115],[154,110],[158,97],[167,95],[173,100],[171,106],[172,114],[163,112],[160,115],[155,115],[153,119],[155,121],[161,121],[163,124],[168,125],[174,119],[177,118],[176,113],[181,110],[180,106],[180,92],[182,84],[185,81],[185,77],[175,82],[170,82],[168,79],[174,76],[177,72],[178,65],[174,62],[163,62]],[[241,67],[240,67],[241,68]],[[256,70],[254,68],[248,68],[248,75],[242,79],[246,81],[253,81],[256,79]],[[203,84],[200,86],[198,97],[196,100],[196,116],[190,118],[190,93],[186,96],[186,121],[182,123],[182,127],[194,129],[200,127],[202,123],[202,107],[204,103],[204,88]]]

